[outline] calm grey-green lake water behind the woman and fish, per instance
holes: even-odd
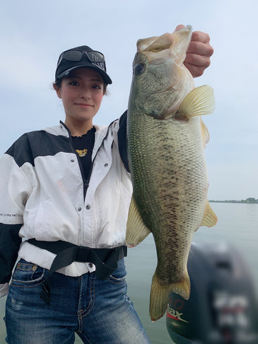
[[[258,204],[211,203],[218,217],[213,228],[201,227],[193,241],[227,242],[235,246],[246,260],[255,290],[258,290]],[[172,343],[166,330],[166,319],[151,323],[149,293],[151,279],[157,264],[153,237],[149,235],[139,246],[129,249],[127,266],[128,295],[133,301],[152,344]],[[0,299],[0,319],[4,315],[6,297]],[[0,344],[4,344],[5,325],[0,321]],[[82,343],[76,336],[75,343]],[[116,343],[114,343],[116,344]]]

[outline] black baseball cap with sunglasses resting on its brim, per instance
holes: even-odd
[[[87,45],[81,45],[62,52],[56,66],[56,82],[58,79],[67,76],[72,70],[83,67],[94,69],[100,73],[103,76],[104,83],[112,83],[107,74],[105,56],[101,52],[96,52],[87,47]]]

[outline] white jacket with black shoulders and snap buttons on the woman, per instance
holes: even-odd
[[[55,255],[21,238],[68,241],[91,248],[125,244],[132,185],[126,151],[126,112],[96,127],[92,173],[83,178],[69,130],[59,126],[25,133],[0,160],[0,297],[17,255],[49,269]],[[89,264],[58,270],[80,276]]]

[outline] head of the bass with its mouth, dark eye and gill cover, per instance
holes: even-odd
[[[166,118],[178,110],[184,96],[194,88],[193,77],[183,65],[191,35],[192,28],[188,25],[172,34],[138,40],[131,92],[137,89],[133,101],[144,114]]]

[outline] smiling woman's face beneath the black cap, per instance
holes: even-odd
[[[81,122],[82,125],[92,123],[101,105],[103,87],[103,78],[94,69],[74,69],[67,78],[63,78],[56,94],[63,101],[65,122]]]

